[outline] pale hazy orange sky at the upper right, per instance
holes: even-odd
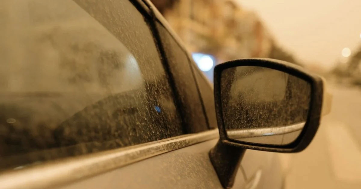
[[[278,43],[324,68],[361,46],[361,0],[238,0],[255,10]]]

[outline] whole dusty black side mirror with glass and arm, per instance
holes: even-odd
[[[219,141],[210,160],[225,188],[245,149],[304,150],[318,129],[323,83],[303,68],[273,59],[240,59],[214,68]]]

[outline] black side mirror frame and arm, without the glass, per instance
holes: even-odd
[[[296,137],[294,141],[285,145],[274,145],[268,143],[244,142],[229,138],[227,136],[221,96],[221,89],[225,89],[225,87],[221,86],[221,77],[223,70],[235,68],[238,66],[258,66],[260,68],[278,70],[309,83],[310,96],[309,108],[305,116],[306,120],[303,128],[299,132],[299,136]],[[262,77],[262,75],[260,76]],[[210,150],[209,157],[223,187],[230,188],[233,185],[234,178],[238,170],[240,160],[244,155],[245,149],[281,153],[293,153],[304,150],[312,141],[314,135],[317,132],[321,117],[322,97],[323,82],[321,77],[317,76],[316,74],[309,73],[295,64],[274,59],[251,58],[232,60],[217,65],[214,68],[214,100],[219,129],[219,141],[217,142],[217,145],[212,150]],[[227,119],[230,119],[230,117],[227,117]]]

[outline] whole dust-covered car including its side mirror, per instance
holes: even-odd
[[[243,59],[213,87],[149,0],[0,4],[1,188],[282,188],[271,152],[317,131],[319,76]]]

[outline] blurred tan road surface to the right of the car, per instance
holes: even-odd
[[[297,154],[278,154],[287,168],[285,189],[361,188],[361,89],[335,84],[329,115]]]

